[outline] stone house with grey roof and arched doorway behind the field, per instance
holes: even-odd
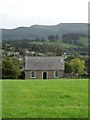
[[[63,76],[63,57],[25,57],[25,79],[53,79]]]

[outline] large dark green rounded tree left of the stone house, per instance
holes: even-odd
[[[16,57],[5,57],[2,60],[2,78],[17,79],[20,74],[19,61]]]

